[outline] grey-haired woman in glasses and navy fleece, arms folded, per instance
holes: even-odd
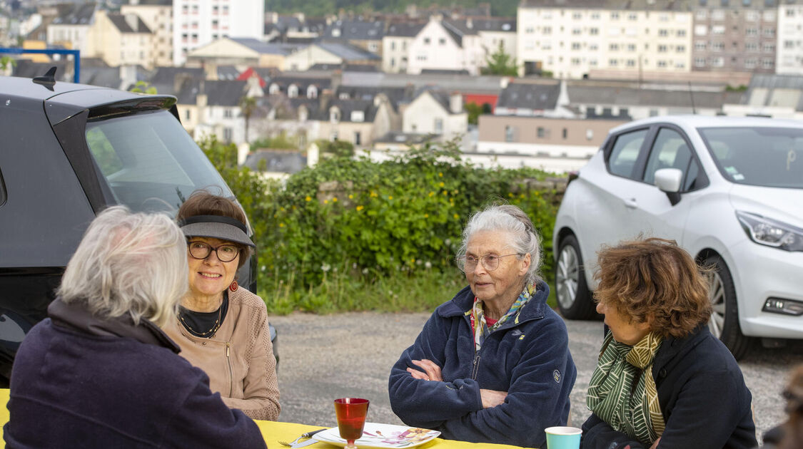
[[[577,376],[563,320],[538,277],[540,239],[520,208],[492,206],[463,230],[468,286],[438,306],[393,366],[390,405],[446,439],[544,447],[565,425]]]

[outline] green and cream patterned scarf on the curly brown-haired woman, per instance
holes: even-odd
[[[665,423],[658,404],[652,364],[660,335],[651,332],[634,346],[613,340],[608,332],[597,369],[589,382],[589,410],[616,431],[650,446],[663,433]]]

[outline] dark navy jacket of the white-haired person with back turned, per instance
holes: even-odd
[[[14,360],[9,449],[265,447],[153,323],[99,320],[58,299],[48,313]]]

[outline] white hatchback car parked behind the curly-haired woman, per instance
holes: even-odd
[[[601,245],[639,236],[715,267],[709,327],[736,358],[752,337],[803,338],[803,122],[683,115],[613,128],[557,214],[566,318],[596,316]]]

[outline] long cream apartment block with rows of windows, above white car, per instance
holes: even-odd
[[[594,69],[691,71],[691,4],[683,0],[523,0],[520,75],[583,78]]]

